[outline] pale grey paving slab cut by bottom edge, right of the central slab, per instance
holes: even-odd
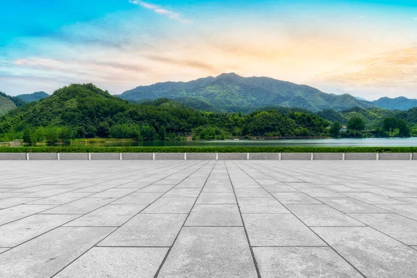
[[[330,247],[254,247],[262,277],[363,277]]]

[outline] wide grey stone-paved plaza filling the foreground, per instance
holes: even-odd
[[[0,161],[0,277],[417,277],[417,161]]]

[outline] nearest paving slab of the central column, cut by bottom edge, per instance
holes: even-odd
[[[243,227],[184,227],[158,277],[257,275]]]

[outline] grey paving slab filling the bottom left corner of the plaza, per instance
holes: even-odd
[[[61,227],[0,254],[0,277],[51,277],[113,231]]]

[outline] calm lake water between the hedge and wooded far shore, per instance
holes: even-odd
[[[361,139],[289,139],[289,140],[227,140],[227,141],[154,141],[154,142],[109,142],[72,144],[72,146],[96,147],[274,147],[274,146],[322,146],[322,147],[413,147],[417,146],[417,137],[413,138],[361,138]]]

